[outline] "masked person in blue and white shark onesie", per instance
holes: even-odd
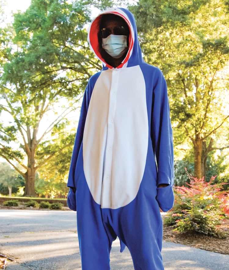
[[[110,269],[117,236],[135,270],[162,270],[160,208],[174,203],[166,82],[144,62],[127,9],[92,20],[88,42],[103,69],[85,89],[67,183],[82,270]]]

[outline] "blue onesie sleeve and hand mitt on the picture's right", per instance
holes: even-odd
[[[160,72],[153,89],[151,139],[156,156],[158,177],[157,185],[168,184],[157,188],[156,200],[162,211],[173,207],[173,132],[169,117],[169,100],[165,78]]]

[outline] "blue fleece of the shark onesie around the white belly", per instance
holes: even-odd
[[[89,191],[83,170],[83,132],[100,71],[89,79],[85,89],[67,183],[70,187],[67,203],[73,211],[77,206],[82,270],[109,270],[111,244],[117,236],[121,251],[128,247],[135,270],[163,270],[159,207],[168,211],[174,202],[173,136],[167,87],[162,72],[146,64],[142,58],[133,14],[126,9],[121,10],[127,14],[135,30],[133,53],[127,67],[139,65],[146,84],[149,137],[144,175],[135,199],[118,209],[102,209]],[[103,70],[106,69],[103,67]],[[157,188],[163,183],[168,186]],[[76,193],[72,188],[76,188]]]

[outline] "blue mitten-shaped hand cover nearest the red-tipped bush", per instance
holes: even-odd
[[[167,212],[173,208],[174,194],[172,184],[164,188],[157,188],[156,200],[163,212]]]

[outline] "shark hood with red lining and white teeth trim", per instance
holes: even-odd
[[[95,53],[96,57],[100,59],[100,61],[103,63],[103,70],[113,68],[105,62],[105,60],[102,58],[99,52],[98,32],[100,19],[101,15],[107,13],[112,13],[121,16],[129,26],[130,30],[129,50],[126,54],[125,59],[122,61],[121,65],[119,65],[117,68],[133,67],[143,64],[144,60],[142,58],[142,52],[138,41],[136,22],[133,14],[127,9],[109,8],[104,10],[104,12],[100,13],[96,18],[94,18],[88,28],[88,43],[90,45],[90,49]]]

